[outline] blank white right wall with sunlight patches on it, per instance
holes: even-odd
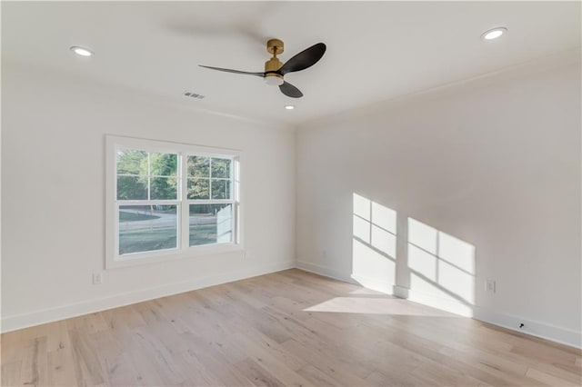
[[[298,266],[512,329],[523,322],[524,332],[580,346],[577,56],[301,125]],[[396,211],[396,275],[385,264],[390,254],[354,237],[354,193]],[[424,231],[431,243],[437,231],[454,241],[452,259],[465,260],[458,265],[467,264],[467,273],[451,272],[430,248],[414,255],[408,218],[433,228]],[[415,265],[432,275],[435,264],[452,278],[415,281]],[[496,293],[485,292],[486,279],[497,282]],[[463,286],[471,294],[457,289]]]

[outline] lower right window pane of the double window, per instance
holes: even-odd
[[[232,204],[191,204],[190,245],[233,241]]]

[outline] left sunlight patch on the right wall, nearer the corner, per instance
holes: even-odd
[[[353,194],[352,278],[392,293],[396,281],[396,211]]]

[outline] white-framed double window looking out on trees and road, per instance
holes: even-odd
[[[107,267],[240,249],[238,153],[107,137]]]

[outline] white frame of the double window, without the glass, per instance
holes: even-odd
[[[107,135],[105,137],[105,268],[134,266],[145,263],[160,263],[175,259],[191,258],[217,253],[243,252],[242,211],[240,189],[240,157],[241,152],[234,149],[215,148],[193,144],[178,144],[165,141],[146,140],[132,137]],[[145,152],[158,152],[178,155],[178,172],[176,200],[117,200],[116,158],[119,149],[135,149]],[[188,199],[187,198],[187,156],[206,156],[228,158],[233,160],[232,199]],[[156,250],[144,253],[119,255],[118,238],[119,222],[118,208],[120,205],[139,204],[170,204],[176,205],[177,235],[176,249]],[[189,244],[189,209],[190,204],[232,203],[233,204],[233,242],[212,243],[190,246]]]

